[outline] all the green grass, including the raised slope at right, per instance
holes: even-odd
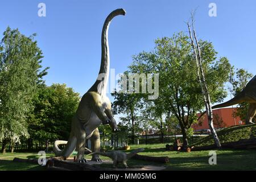
[[[218,131],[218,137],[221,143],[234,142],[240,139],[256,139],[256,125],[233,126],[224,130]],[[169,164],[159,164],[151,161],[130,159],[127,162],[129,167],[137,167],[142,165],[166,166],[167,170],[256,170],[256,150],[234,150],[222,149],[215,150],[217,154],[217,164],[209,165],[209,151],[167,151],[165,146],[167,143],[158,144],[134,144],[131,145],[131,150],[142,147],[145,150],[139,154],[148,156],[168,156]],[[170,143],[169,143],[170,144]],[[213,144],[211,136],[199,138],[193,143],[194,146],[203,146]],[[130,152],[125,151],[125,152]],[[47,157],[54,154],[47,154]],[[0,170],[46,170],[36,164],[14,163],[13,159],[22,158],[38,158],[36,153],[7,153],[0,154]],[[90,159],[92,156],[85,156]],[[109,159],[101,156],[101,159]],[[111,164],[102,164],[102,167],[111,168]],[[121,167],[121,166],[120,166]]]

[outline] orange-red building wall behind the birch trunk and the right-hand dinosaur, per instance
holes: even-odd
[[[240,117],[233,117],[233,113],[235,113],[237,110],[236,107],[232,108],[221,108],[221,109],[215,109],[213,110],[213,115],[217,115],[219,119],[223,120],[224,125],[221,127],[229,127],[229,126],[235,126],[235,125],[244,125],[245,123],[241,123]],[[201,114],[197,114],[199,117]],[[213,119],[216,119],[216,117],[213,117]],[[196,123],[192,125],[192,128],[194,131],[200,131],[200,130],[208,130],[208,118],[205,114],[202,119],[200,119],[199,123]],[[220,128],[219,126],[214,125],[215,129]]]

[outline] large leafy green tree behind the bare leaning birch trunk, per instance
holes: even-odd
[[[157,39],[155,44],[154,51],[135,55],[129,69],[133,73],[159,73],[159,97],[154,104],[164,110],[164,114],[172,113],[176,117],[183,134],[183,146],[187,147],[187,130],[197,121],[196,114],[204,106],[193,49],[183,32],[172,38]],[[200,40],[199,46],[212,102],[220,102],[226,97],[224,84],[231,66],[226,57],[217,60],[212,43]]]

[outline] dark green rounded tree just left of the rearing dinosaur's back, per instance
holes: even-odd
[[[34,114],[28,120],[30,145],[68,139],[71,120],[79,105],[79,93],[65,84],[41,86],[35,102]]]

